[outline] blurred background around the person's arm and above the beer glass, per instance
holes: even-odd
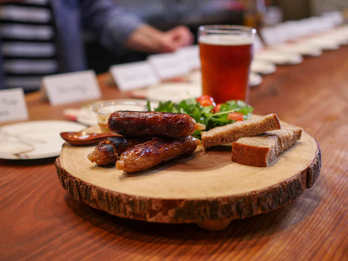
[[[340,10],[348,17],[346,0],[115,0],[150,25],[169,30],[186,25],[197,43],[197,28],[204,24],[273,26],[287,20],[318,16]],[[97,73],[111,64],[142,61],[147,54],[103,48],[92,34],[86,35],[88,65]],[[102,58],[102,59],[100,59]]]

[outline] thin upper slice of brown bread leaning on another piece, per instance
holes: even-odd
[[[236,121],[232,124],[219,126],[208,131],[202,131],[202,143],[204,148],[231,143],[242,137],[250,137],[265,131],[280,129],[279,119],[276,114]]]

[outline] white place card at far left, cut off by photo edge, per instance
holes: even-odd
[[[26,119],[28,119],[28,111],[23,89],[0,90],[0,122]]]

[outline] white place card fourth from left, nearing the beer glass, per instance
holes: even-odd
[[[170,79],[185,75],[189,66],[177,53],[153,54],[148,61],[161,79]]]

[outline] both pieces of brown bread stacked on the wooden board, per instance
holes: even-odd
[[[232,161],[255,167],[267,167],[279,153],[301,138],[302,129],[280,126],[276,114],[237,121],[202,132],[204,148],[232,143]]]

